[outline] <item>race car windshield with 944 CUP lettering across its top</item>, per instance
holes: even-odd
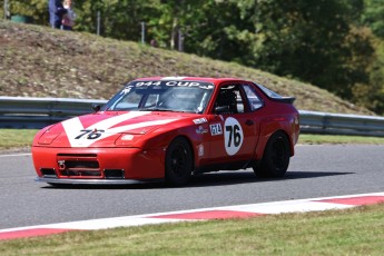
[[[112,111],[204,112],[214,85],[201,81],[132,81],[105,107]]]

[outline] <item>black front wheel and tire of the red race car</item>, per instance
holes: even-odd
[[[174,186],[189,181],[194,170],[193,150],[185,138],[174,139],[166,152],[166,180]]]

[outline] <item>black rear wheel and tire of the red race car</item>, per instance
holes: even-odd
[[[284,132],[277,131],[270,136],[263,159],[254,167],[254,171],[259,177],[283,177],[288,169],[289,158],[289,140]]]

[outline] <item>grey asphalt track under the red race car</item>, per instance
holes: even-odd
[[[35,183],[31,156],[0,155],[0,229],[384,190],[383,146],[297,146],[287,175],[206,174],[187,187],[164,184],[55,188]]]

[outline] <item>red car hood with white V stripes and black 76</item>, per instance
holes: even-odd
[[[47,129],[35,146],[111,147],[134,146],[144,135],[190,114],[150,111],[102,111],[75,117]],[[118,141],[118,142],[117,142]]]

